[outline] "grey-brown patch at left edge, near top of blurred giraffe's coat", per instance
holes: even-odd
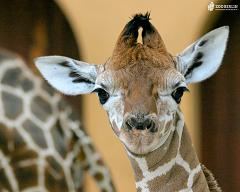
[[[8,69],[2,78],[2,83],[5,85],[16,87],[20,82],[21,75],[22,70],[20,68]]]

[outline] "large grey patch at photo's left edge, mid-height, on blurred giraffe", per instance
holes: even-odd
[[[9,119],[17,119],[23,112],[23,101],[16,95],[3,91],[2,102],[4,113]]]

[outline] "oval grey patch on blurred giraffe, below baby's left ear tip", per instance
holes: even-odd
[[[31,111],[43,122],[52,114],[52,107],[44,98],[36,96],[31,102]]]

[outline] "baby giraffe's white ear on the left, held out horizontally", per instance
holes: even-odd
[[[34,62],[49,84],[66,95],[91,93],[101,66],[63,56],[38,57]]]

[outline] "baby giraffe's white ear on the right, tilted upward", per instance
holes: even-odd
[[[211,77],[220,67],[227,45],[229,27],[210,31],[177,55],[177,69],[187,83]]]

